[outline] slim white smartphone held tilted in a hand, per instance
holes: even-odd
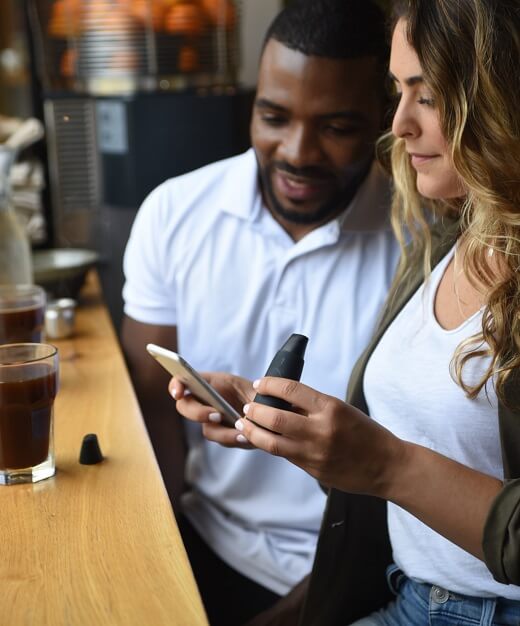
[[[165,370],[178,378],[196,398],[215,408],[222,415],[222,423],[224,425],[235,426],[235,422],[242,415],[235,411],[229,402],[224,400],[219,392],[204,380],[185,359],[176,352],[156,346],[153,343],[149,343],[146,349]]]

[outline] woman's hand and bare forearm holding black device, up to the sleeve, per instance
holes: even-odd
[[[285,457],[329,487],[394,502],[483,558],[484,525],[500,480],[398,439],[362,411],[301,383],[266,377],[254,388],[295,407],[281,411],[249,402],[247,419],[236,426],[255,447]]]

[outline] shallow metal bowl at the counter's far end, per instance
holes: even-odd
[[[52,248],[33,252],[34,282],[54,298],[77,298],[88,270],[98,262],[94,250]]]

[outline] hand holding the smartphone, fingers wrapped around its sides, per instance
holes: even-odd
[[[201,375],[239,413],[242,413],[244,404],[255,396],[251,381],[245,378],[222,372],[204,372]],[[252,447],[237,430],[223,426],[220,413],[202,404],[177,378],[170,380],[168,390],[176,402],[177,411],[192,422],[202,424],[202,433],[206,439],[229,448]]]

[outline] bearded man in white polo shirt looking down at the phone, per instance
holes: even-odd
[[[253,148],[161,185],[128,243],[122,341],[212,626],[244,623],[308,574],[325,496],[291,464],[183,423],[144,346],[253,379],[299,332],[302,381],[344,396],[397,257],[373,163],[384,42],[369,0],[291,3],[266,36]]]

